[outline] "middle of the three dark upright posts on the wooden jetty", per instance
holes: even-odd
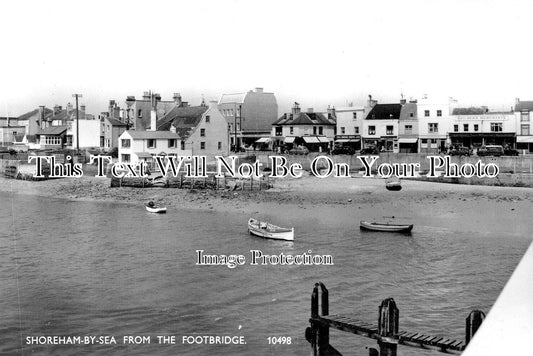
[[[378,318],[378,345],[380,356],[396,356],[398,340],[398,321],[400,311],[396,307],[394,299],[387,298],[379,306]]]

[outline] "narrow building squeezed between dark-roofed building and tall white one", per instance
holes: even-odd
[[[398,121],[398,151],[400,153],[418,152],[418,112],[416,101],[400,100],[400,120]]]

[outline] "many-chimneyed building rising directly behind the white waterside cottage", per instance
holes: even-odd
[[[187,106],[187,102],[181,101],[181,95],[175,93],[173,100],[161,100],[161,95],[145,91],[142,99],[135,99],[135,96],[128,96],[126,107],[121,110],[121,121],[130,125],[137,131],[150,129],[152,111],[155,110],[157,119],[163,118],[175,107]],[[114,108],[111,109],[114,111]],[[116,117],[115,117],[116,118]]]

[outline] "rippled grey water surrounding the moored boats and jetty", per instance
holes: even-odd
[[[393,296],[400,328],[464,337],[470,310],[490,309],[530,239],[449,229],[424,221],[411,236],[364,233],[357,212],[344,216],[308,208],[289,219],[295,243],[254,238],[249,212],[70,202],[0,194],[0,354],[308,355],[304,339],[313,285],[330,290],[330,312],[358,312],[377,321]],[[456,217],[460,219],[461,217]],[[290,223],[288,223],[290,224]],[[334,266],[196,266],[195,251],[331,254]],[[27,336],[109,335],[117,345],[35,346]],[[124,345],[125,335],[151,336]],[[176,345],[157,345],[176,335]],[[183,345],[183,335],[244,335],[245,346]],[[291,345],[268,345],[268,336]],[[375,341],[331,332],[341,352],[367,355]],[[434,355],[400,347],[400,354]]]

